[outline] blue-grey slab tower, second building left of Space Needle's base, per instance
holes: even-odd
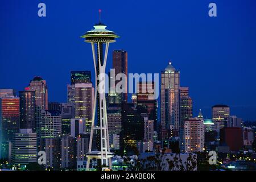
[[[61,168],[74,168],[76,164],[76,139],[61,137]]]

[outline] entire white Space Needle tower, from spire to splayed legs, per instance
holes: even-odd
[[[101,15],[101,10],[99,10]],[[105,69],[106,61],[108,57],[109,43],[115,42],[115,38],[119,36],[113,31],[106,29],[105,24],[100,22],[95,24],[93,30],[85,32],[81,38],[84,38],[84,42],[92,45],[93,63],[95,71],[95,95],[93,105],[93,117],[92,117],[92,129],[90,131],[89,151],[86,154],[87,164],[86,170],[90,168],[90,161],[97,159],[98,166],[105,166],[104,169],[111,169],[111,158],[114,156],[110,152],[109,147],[109,131],[108,131],[108,119],[106,113],[106,97],[105,92],[100,91],[97,88],[104,88],[105,90]],[[103,49],[105,47],[105,53],[103,55]],[[96,109],[97,109],[97,125],[96,125]],[[93,134],[96,131],[96,146],[97,150],[92,151]],[[100,163],[100,165],[99,165]]]

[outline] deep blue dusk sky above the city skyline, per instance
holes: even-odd
[[[38,3],[47,17],[38,17]],[[217,17],[208,16],[210,2]],[[66,101],[70,71],[93,73],[91,47],[80,36],[102,22],[121,38],[129,73],[160,73],[171,60],[189,86],[194,113],[226,104],[256,119],[256,1],[0,1],[0,88],[23,90],[34,76],[47,80],[49,101]]]

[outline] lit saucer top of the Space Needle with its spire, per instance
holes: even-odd
[[[101,13],[101,10],[99,10]],[[97,43],[97,42],[104,42],[104,43],[113,43],[115,42],[115,38],[119,38],[115,32],[107,30],[106,25],[101,23],[101,21],[95,24],[93,30],[85,32],[81,38],[85,38],[85,42],[88,43]]]

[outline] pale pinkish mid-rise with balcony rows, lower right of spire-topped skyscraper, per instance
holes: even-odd
[[[184,122],[185,153],[203,152],[204,123],[201,119],[189,118]]]

